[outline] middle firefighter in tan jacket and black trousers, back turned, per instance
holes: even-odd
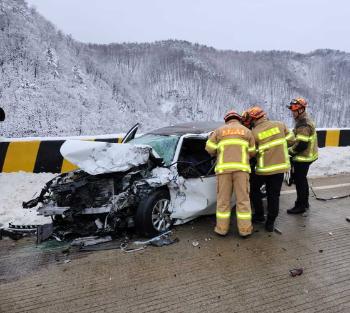
[[[252,180],[252,205],[255,210],[253,222],[265,222],[263,202],[260,194],[266,185],[267,219],[265,229],[273,232],[279,212],[279,197],[284,173],[290,170],[288,146],[294,143],[294,134],[278,121],[270,121],[262,108],[255,106],[247,110],[252,123],[257,148],[256,176]]]

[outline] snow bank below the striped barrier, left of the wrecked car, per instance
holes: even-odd
[[[37,196],[53,176],[48,173],[0,173],[0,227],[8,227],[8,223],[50,223],[50,218],[36,215],[35,208],[23,209],[22,202],[32,199],[34,194]]]

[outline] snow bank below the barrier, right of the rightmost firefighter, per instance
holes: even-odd
[[[309,176],[329,176],[350,173],[350,147],[326,147],[318,150],[318,160],[309,171]]]

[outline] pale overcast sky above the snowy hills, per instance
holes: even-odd
[[[187,40],[217,49],[350,52],[349,0],[27,0],[92,43]]]

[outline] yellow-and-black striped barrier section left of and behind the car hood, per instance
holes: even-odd
[[[86,139],[120,143],[122,138]],[[60,148],[65,140],[0,142],[0,172],[64,173],[77,167],[65,160]]]

